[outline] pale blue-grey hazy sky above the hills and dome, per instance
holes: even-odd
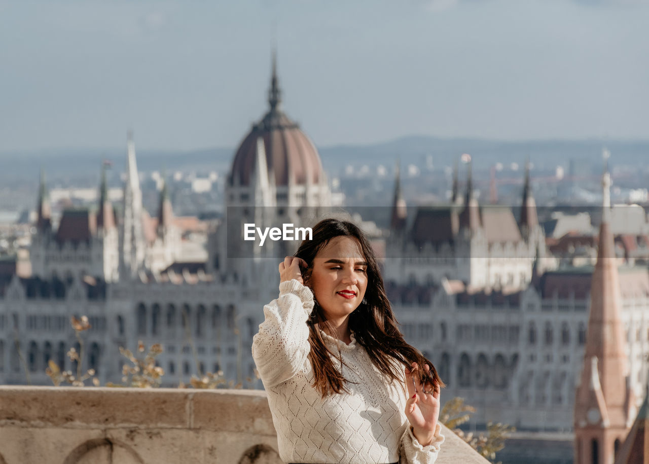
[[[275,26],[273,26],[275,24]],[[647,0],[0,0],[0,152],[649,138]],[[273,32],[273,31],[276,32]]]

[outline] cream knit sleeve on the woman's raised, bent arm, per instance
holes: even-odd
[[[311,347],[306,321],[313,310],[311,289],[298,280],[280,283],[280,296],[263,307],[264,321],[252,337],[252,358],[266,389],[293,377]]]

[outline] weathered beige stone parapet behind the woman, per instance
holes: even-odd
[[[438,464],[486,464],[450,430]],[[280,464],[266,394],[0,386],[0,464]]]

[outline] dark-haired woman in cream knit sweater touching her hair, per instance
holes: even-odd
[[[434,463],[444,385],[400,334],[363,232],[325,219],[279,272],[280,295],[263,308],[252,356],[280,457]]]

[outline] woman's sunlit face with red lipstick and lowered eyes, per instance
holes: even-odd
[[[367,289],[367,262],[358,241],[331,239],[313,258],[310,285],[327,320],[340,321],[358,308]]]

